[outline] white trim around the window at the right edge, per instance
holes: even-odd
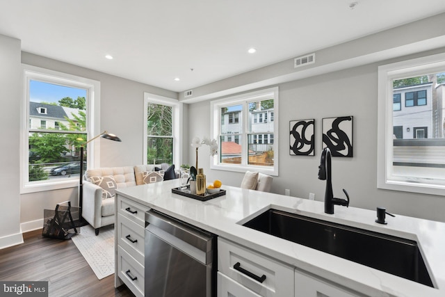
[[[436,65],[433,67],[432,63]],[[445,195],[445,186],[394,180],[392,80],[437,73],[445,68],[445,54],[437,54],[378,67],[378,143],[377,143],[377,187],[395,191],[407,191],[432,195]],[[428,70],[428,71],[427,71]]]

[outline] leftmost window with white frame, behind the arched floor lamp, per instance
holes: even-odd
[[[24,65],[24,80],[21,193],[77,186],[80,147],[99,134],[93,129],[99,82],[29,65]],[[86,147],[90,166],[97,166],[93,156],[99,154],[98,146]]]

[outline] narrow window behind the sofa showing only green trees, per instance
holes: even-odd
[[[144,163],[181,165],[179,123],[182,104],[177,99],[145,93]]]

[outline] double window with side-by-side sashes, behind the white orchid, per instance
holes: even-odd
[[[277,138],[278,122],[265,122],[268,113],[273,117],[273,112],[277,111],[278,88],[211,102],[211,138],[218,139],[220,145],[211,168],[240,172],[256,170],[277,175],[278,142],[274,143],[273,138]],[[229,125],[220,120],[226,117]]]

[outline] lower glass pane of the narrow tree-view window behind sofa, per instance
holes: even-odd
[[[173,163],[173,138],[147,137],[147,164]]]

